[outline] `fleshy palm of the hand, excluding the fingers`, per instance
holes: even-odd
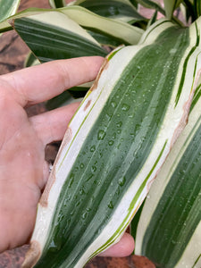
[[[10,91],[9,86],[4,87]],[[25,243],[33,229],[38,199],[45,186],[45,147],[24,109],[9,94],[0,100],[4,114],[0,137],[0,250]],[[3,237],[2,237],[3,236]]]

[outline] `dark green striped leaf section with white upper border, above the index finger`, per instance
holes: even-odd
[[[13,21],[14,29],[41,63],[106,51],[86,30],[59,12],[46,12]]]

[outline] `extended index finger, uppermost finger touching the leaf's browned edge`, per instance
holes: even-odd
[[[4,74],[1,79],[13,88],[22,106],[35,105],[94,80],[103,60],[100,56],[58,60]]]

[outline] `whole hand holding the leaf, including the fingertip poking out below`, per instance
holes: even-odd
[[[32,117],[24,108],[94,80],[102,63],[99,56],[81,57],[43,63],[0,77],[0,252],[29,242],[38,200],[49,175],[46,145],[63,138],[79,104]],[[133,248],[133,239],[125,233],[102,255],[130,255]]]

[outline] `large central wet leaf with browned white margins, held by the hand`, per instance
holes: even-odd
[[[120,239],[187,120],[198,24],[158,21],[107,57],[63,139],[23,267],[82,267]]]

